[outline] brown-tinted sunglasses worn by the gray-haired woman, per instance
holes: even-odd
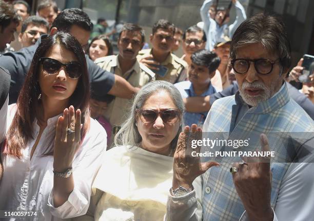
[[[164,111],[154,111],[153,109],[136,109],[143,123],[153,123],[160,115],[164,123],[173,124],[180,118],[179,109],[165,109]]]

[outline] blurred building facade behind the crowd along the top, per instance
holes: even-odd
[[[32,6],[33,14],[39,1],[27,1]],[[218,4],[228,6],[230,1],[219,0]],[[291,42],[292,65],[295,65],[303,54],[314,54],[313,0],[238,1],[246,9],[248,17],[263,11],[282,16]],[[149,43],[151,27],[160,18],[168,19],[182,30],[201,21],[200,8],[204,0],[56,0],[56,2],[61,10],[83,8],[94,24],[99,17],[107,19],[111,27],[123,23],[139,24],[145,29],[146,41]],[[230,23],[233,22],[234,16],[233,6],[230,11]],[[178,53],[180,55],[182,52]]]

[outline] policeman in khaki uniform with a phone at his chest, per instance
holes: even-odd
[[[187,78],[184,72],[188,66],[187,63],[171,53],[174,31],[173,24],[160,19],[153,25],[150,35],[152,49],[139,52],[138,60],[156,74],[156,80],[176,83]]]

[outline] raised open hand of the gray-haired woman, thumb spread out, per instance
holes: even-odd
[[[210,167],[219,166],[219,163],[215,162],[201,163],[198,154],[196,154],[196,157],[192,157],[192,151],[199,153],[201,147],[197,146],[196,148],[192,148],[191,142],[192,140],[201,139],[202,129],[196,124],[192,124],[191,131],[190,127],[186,126],[184,132],[181,132],[173,156],[173,189],[180,186],[190,189],[195,178],[206,172]]]

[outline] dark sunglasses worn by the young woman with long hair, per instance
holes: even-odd
[[[82,65],[77,61],[71,61],[69,63],[61,63],[60,61],[42,57],[40,58],[40,63],[43,65],[43,70],[48,74],[55,74],[60,71],[61,67],[65,67],[66,74],[73,79],[79,78],[82,75]]]

